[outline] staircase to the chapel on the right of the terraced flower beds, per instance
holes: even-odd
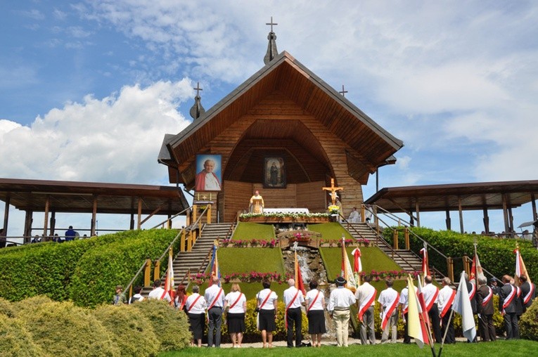
[[[349,228],[347,228],[349,224]],[[368,223],[342,223],[342,226],[353,236],[355,239],[366,238],[371,242],[376,242],[376,231],[368,226]],[[395,261],[396,264],[402,267],[405,271],[421,271],[422,260],[411,250],[395,249],[392,250],[390,245],[387,245],[384,240],[378,240],[378,247],[383,253],[385,253],[390,259]],[[433,277],[435,280],[440,281],[443,277],[435,273]]]

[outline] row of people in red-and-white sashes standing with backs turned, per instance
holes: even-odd
[[[494,304],[493,296],[499,296],[498,309],[504,316],[506,327],[506,339],[518,339],[518,318],[532,304],[536,296],[535,286],[527,281],[525,275],[518,277],[520,286],[514,285],[514,280],[509,275],[504,275],[502,282],[491,280],[491,286],[487,285],[485,278],[478,278],[478,287],[474,280],[469,280],[464,274],[464,280],[468,290],[468,298],[473,314],[478,316],[478,335],[480,341],[489,342],[497,339],[493,323]],[[316,280],[309,282],[309,291],[303,295],[301,290],[295,287],[295,280],[288,280],[288,289],[283,292],[285,305],[282,318],[286,323],[286,343],[288,347],[305,346],[302,342],[302,313],[306,312],[308,318],[308,333],[312,338],[312,346],[321,346],[321,336],[326,333],[325,312],[328,311],[333,319],[336,332],[337,346],[348,346],[348,329],[350,322],[350,308],[357,306],[358,320],[360,323],[361,344],[376,344],[374,330],[374,305],[380,304],[381,336],[380,343],[397,342],[397,323],[399,318],[404,321],[404,344],[411,343],[407,328],[407,309],[409,306],[409,291],[404,287],[401,292],[394,288],[394,280],[385,280],[386,289],[379,294],[371,285],[371,275],[364,276],[364,282],[356,292],[345,287],[347,281],[338,277],[335,280],[335,288],[326,303],[324,292],[318,290]],[[454,336],[453,318],[451,308],[454,304],[456,291],[449,278],[443,278],[442,287],[439,289],[433,284],[431,276],[424,277],[424,286],[421,291],[425,302],[425,314],[429,316],[433,341],[453,344]],[[262,346],[273,346],[273,332],[276,330],[278,318],[277,301],[278,295],[271,290],[269,280],[262,281],[263,289],[256,294],[256,319],[257,328],[262,335]],[[141,287],[134,288],[134,296],[127,301],[122,294],[122,287],[116,287],[113,304],[132,304],[144,299]],[[376,299],[377,298],[377,299]],[[233,348],[241,348],[243,333],[245,332],[245,313],[247,312],[247,299],[241,292],[238,283],[231,285],[228,294],[220,286],[220,280],[213,277],[210,287],[205,293],[200,294],[200,287],[194,285],[192,293],[187,294],[184,285],[179,285],[175,291],[175,297],[161,287],[160,280],[155,280],[153,290],[148,294],[148,299],[160,299],[169,301],[176,309],[184,311],[188,316],[191,332],[193,333],[193,346],[202,346],[205,324],[207,323],[207,346],[219,347],[221,343],[221,327],[223,320],[228,327]],[[390,337],[390,339],[389,339]],[[475,338],[477,342],[478,339]]]

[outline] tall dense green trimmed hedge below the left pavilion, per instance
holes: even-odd
[[[20,301],[46,294],[79,306],[108,303],[115,285],[127,285],[143,261],[160,257],[176,235],[175,230],[125,231],[0,249],[0,297]],[[178,247],[179,240],[174,252]]]

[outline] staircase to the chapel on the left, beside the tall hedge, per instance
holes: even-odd
[[[233,225],[234,223],[210,223],[203,226],[202,234],[196,240],[191,252],[179,252],[174,259],[172,266],[174,267],[174,284],[176,286],[181,283],[181,280],[183,280],[189,270],[191,274],[205,271],[209,260],[201,268],[200,264],[202,264],[210,249],[212,249],[213,242],[215,240],[231,238],[230,233],[233,233]],[[162,280],[164,279],[165,277],[162,277]],[[187,280],[184,281],[184,284],[186,282]],[[147,296],[150,291],[151,287],[144,287],[141,294]]]

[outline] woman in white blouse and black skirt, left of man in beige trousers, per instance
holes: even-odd
[[[310,290],[305,299],[307,306],[308,333],[312,336],[312,346],[321,347],[321,335],[327,332],[325,327],[325,297],[318,290],[318,282],[308,283]]]

